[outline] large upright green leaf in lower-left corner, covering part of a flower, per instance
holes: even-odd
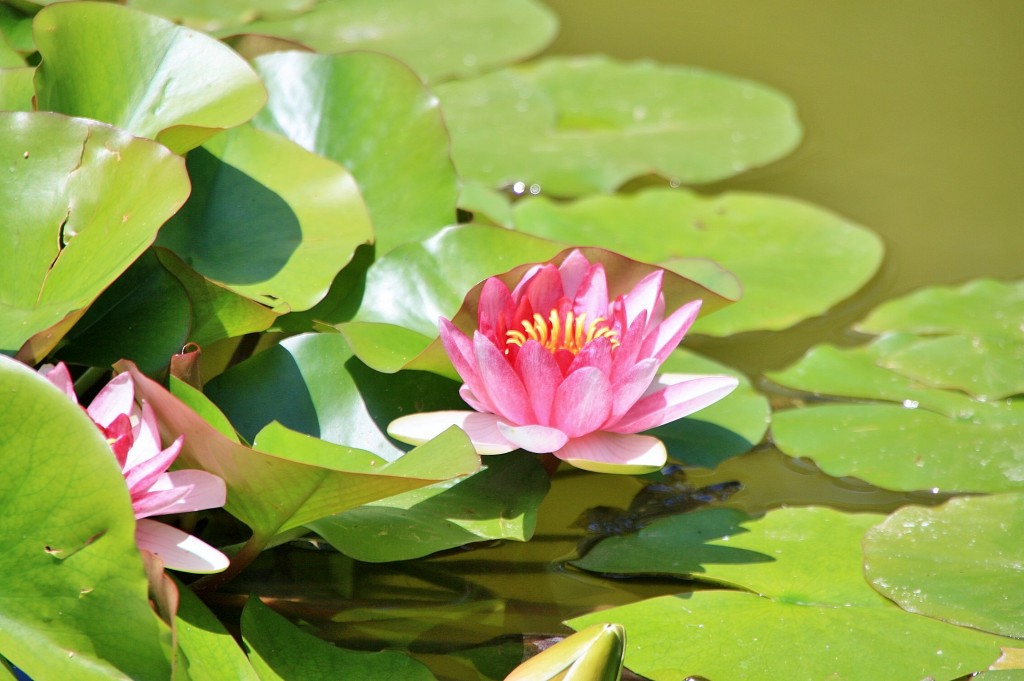
[[[0,356],[0,654],[36,679],[170,678],[124,478],[96,426]]]

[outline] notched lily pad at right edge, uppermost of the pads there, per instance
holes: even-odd
[[[999,399],[1024,392],[1022,317],[1024,282],[978,280],[889,301],[856,329],[923,336],[884,365],[927,385]]]

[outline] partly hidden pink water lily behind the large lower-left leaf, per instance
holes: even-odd
[[[39,372],[78,403],[68,368],[60,363]],[[86,410],[106,437],[121,466],[135,511],[135,543],[158,556],[167,567],[187,572],[219,572],[227,557],[205,542],[157,520],[151,515],[184,513],[224,505],[224,481],[206,471],[168,472],[181,450],[183,437],[163,449],[157,417],[144,401],[135,400],[131,374],[115,376]]]

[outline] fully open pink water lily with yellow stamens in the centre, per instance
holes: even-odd
[[[696,318],[700,301],[665,316],[663,270],[609,300],[604,266],[580,251],[560,266],[538,265],[509,291],[500,279],[480,292],[469,338],[440,320],[440,336],[475,411],[413,414],[388,433],[422,443],[456,425],[483,454],[553,453],[588,470],[660,468],[665,444],[637,433],[727,395],[732,376],[657,374]]]

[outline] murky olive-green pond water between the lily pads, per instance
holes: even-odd
[[[1024,274],[1019,35],[1024,4],[549,0],[549,5],[562,19],[550,53],[604,52],[699,66],[788,94],[805,126],[797,152],[699,190],[803,199],[873,229],[886,243],[880,274],[824,317],[779,333],[692,338],[687,347],[743,370],[767,390],[765,371],[791,364],[815,343],[850,342],[849,325],[883,300],[926,285]],[[257,591],[347,647],[408,645],[439,678],[477,678],[454,651],[505,642],[481,654],[497,659],[504,650],[513,659],[521,654],[521,634],[563,635],[564,619],[685,590],[678,581],[606,580],[565,567],[563,561],[595,531],[622,531],[638,514],[703,501],[760,511],[811,503],[886,510],[907,500],[856,481],[831,480],[769,445],[715,471],[680,473],[672,482],[676,488],[647,491],[631,515],[622,509],[644,490],[644,480],[562,469],[528,543],[381,565],[287,548],[264,555],[217,598],[230,608],[243,594]],[[358,600],[351,600],[352,594]]]

